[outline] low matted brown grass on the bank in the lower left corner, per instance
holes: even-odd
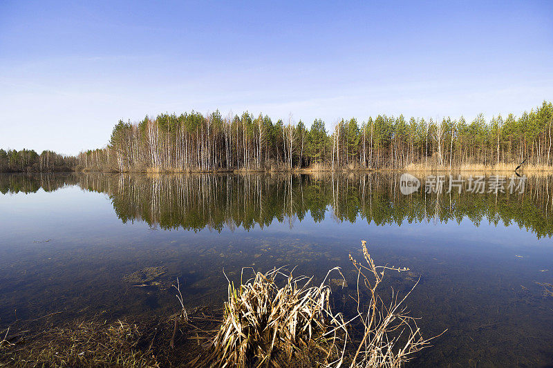
[[[2,351],[0,366],[159,367],[151,351],[138,349],[141,336],[137,325],[121,321],[115,325],[96,320],[80,322],[51,329],[35,337],[31,345],[10,344]]]

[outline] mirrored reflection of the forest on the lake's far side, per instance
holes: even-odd
[[[0,192],[55,191],[77,185],[109,195],[122,222],[141,220],[160,229],[263,229],[274,221],[294,226],[306,216],[321,222],[330,215],[338,222],[361,219],[376,225],[460,223],[467,218],[476,226],[482,221],[516,224],[537,238],[553,235],[552,175],[525,177],[523,193],[509,193],[506,186],[505,193],[487,189],[458,193],[456,188],[447,193],[451,175],[444,175],[442,193],[426,193],[423,184],[410,195],[400,192],[400,175],[0,175]],[[489,182],[493,175],[483,176]],[[427,174],[418,177],[424,183]],[[462,177],[467,181],[469,176]]]

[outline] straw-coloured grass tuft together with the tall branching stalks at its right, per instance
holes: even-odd
[[[312,278],[293,278],[291,273],[273,269],[255,273],[238,289],[229,283],[223,323],[214,338],[208,364],[340,367],[347,362],[350,367],[402,367],[415,352],[429,346],[431,339],[422,338],[415,318],[404,307],[413,289],[401,300],[392,291],[391,302],[384,304],[377,288],[387,270],[409,269],[375,266],[366,242],[362,242],[362,248],[364,263],[350,255],[358,274],[357,316],[347,322],[341,313],[330,310],[326,278],[319,287],[312,287]],[[279,275],[285,278],[283,287],[277,286]],[[368,303],[362,300],[363,286],[368,289]],[[368,309],[362,311],[366,304]],[[354,320],[360,320],[362,327],[357,340],[350,338],[347,328]]]

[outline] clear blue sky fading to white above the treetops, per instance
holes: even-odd
[[[0,0],[0,148],[144,115],[473,119],[553,100],[553,1]]]

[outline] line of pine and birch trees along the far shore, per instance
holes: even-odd
[[[0,171],[185,172],[364,170],[379,168],[533,168],[553,164],[553,104],[520,117],[480,114],[471,122],[378,115],[359,123],[341,119],[328,132],[321,119],[310,128],[267,115],[223,117],[161,114],[118,122],[105,148],[62,157],[50,151],[0,151]]]

